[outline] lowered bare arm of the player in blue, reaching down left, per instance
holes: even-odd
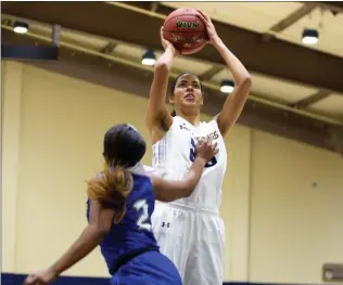
[[[104,235],[110,231],[113,217],[114,211],[112,209],[104,209],[99,202],[90,200],[89,223],[81,235],[50,268],[29,274],[25,284],[49,284],[62,272],[85,258],[101,243]]]

